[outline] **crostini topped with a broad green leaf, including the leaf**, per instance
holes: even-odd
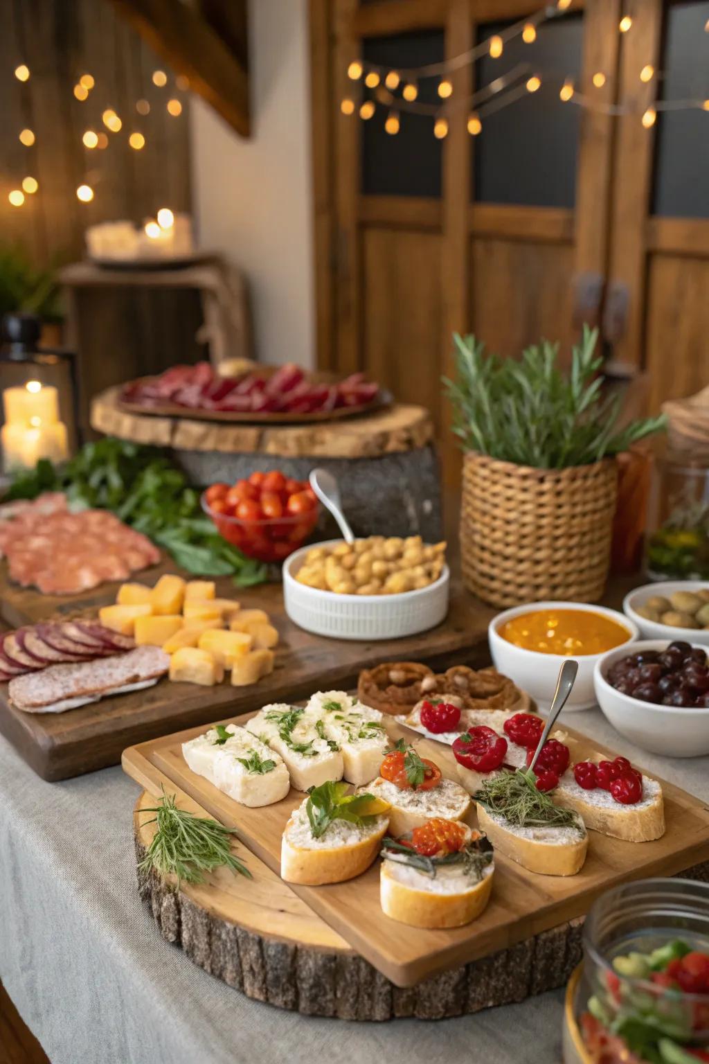
[[[341,883],[374,861],[389,826],[387,803],[348,791],[344,782],[327,781],[291,813],[281,844],[281,878],[287,883]]]

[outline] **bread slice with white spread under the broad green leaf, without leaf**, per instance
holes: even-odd
[[[334,820],[320,838],[314,838],[305,812],[307,799],[290,814],[281,844],[281,878],[287,883],[320,886],[354,879],[371,865],[389,824],[374,817],[359,827]]]

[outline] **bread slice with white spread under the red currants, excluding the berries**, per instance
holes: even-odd
[[[586,827],[592,831],[622,838],[626,843],[648,843],[664,834],[662,787],[648,776],[642,778],[640,801],[634,805],[623,805],[602,787],[594,791],[579,787],[573,770],[569,768],[554,792],[554,801],[557,805],[579,813]]]

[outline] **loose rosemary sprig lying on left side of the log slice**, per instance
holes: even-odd
[[[183,879],[186,883],[202,883],[205,872],[222,865],[252,878],[247,866],[232,853],[236,829],[179,809],[175,795],[166,795],[165,788],[159,804],[141,812],[155,814],[145,822],[157,824],[157,830],[139,869],[154,868],[162,875],[176,876],[178,890]]]

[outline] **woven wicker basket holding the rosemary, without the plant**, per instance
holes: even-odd
[[[537,469],[468,452],[460,550],[466,587],[499,606],[594,602],[608,575],[614,459]]]

